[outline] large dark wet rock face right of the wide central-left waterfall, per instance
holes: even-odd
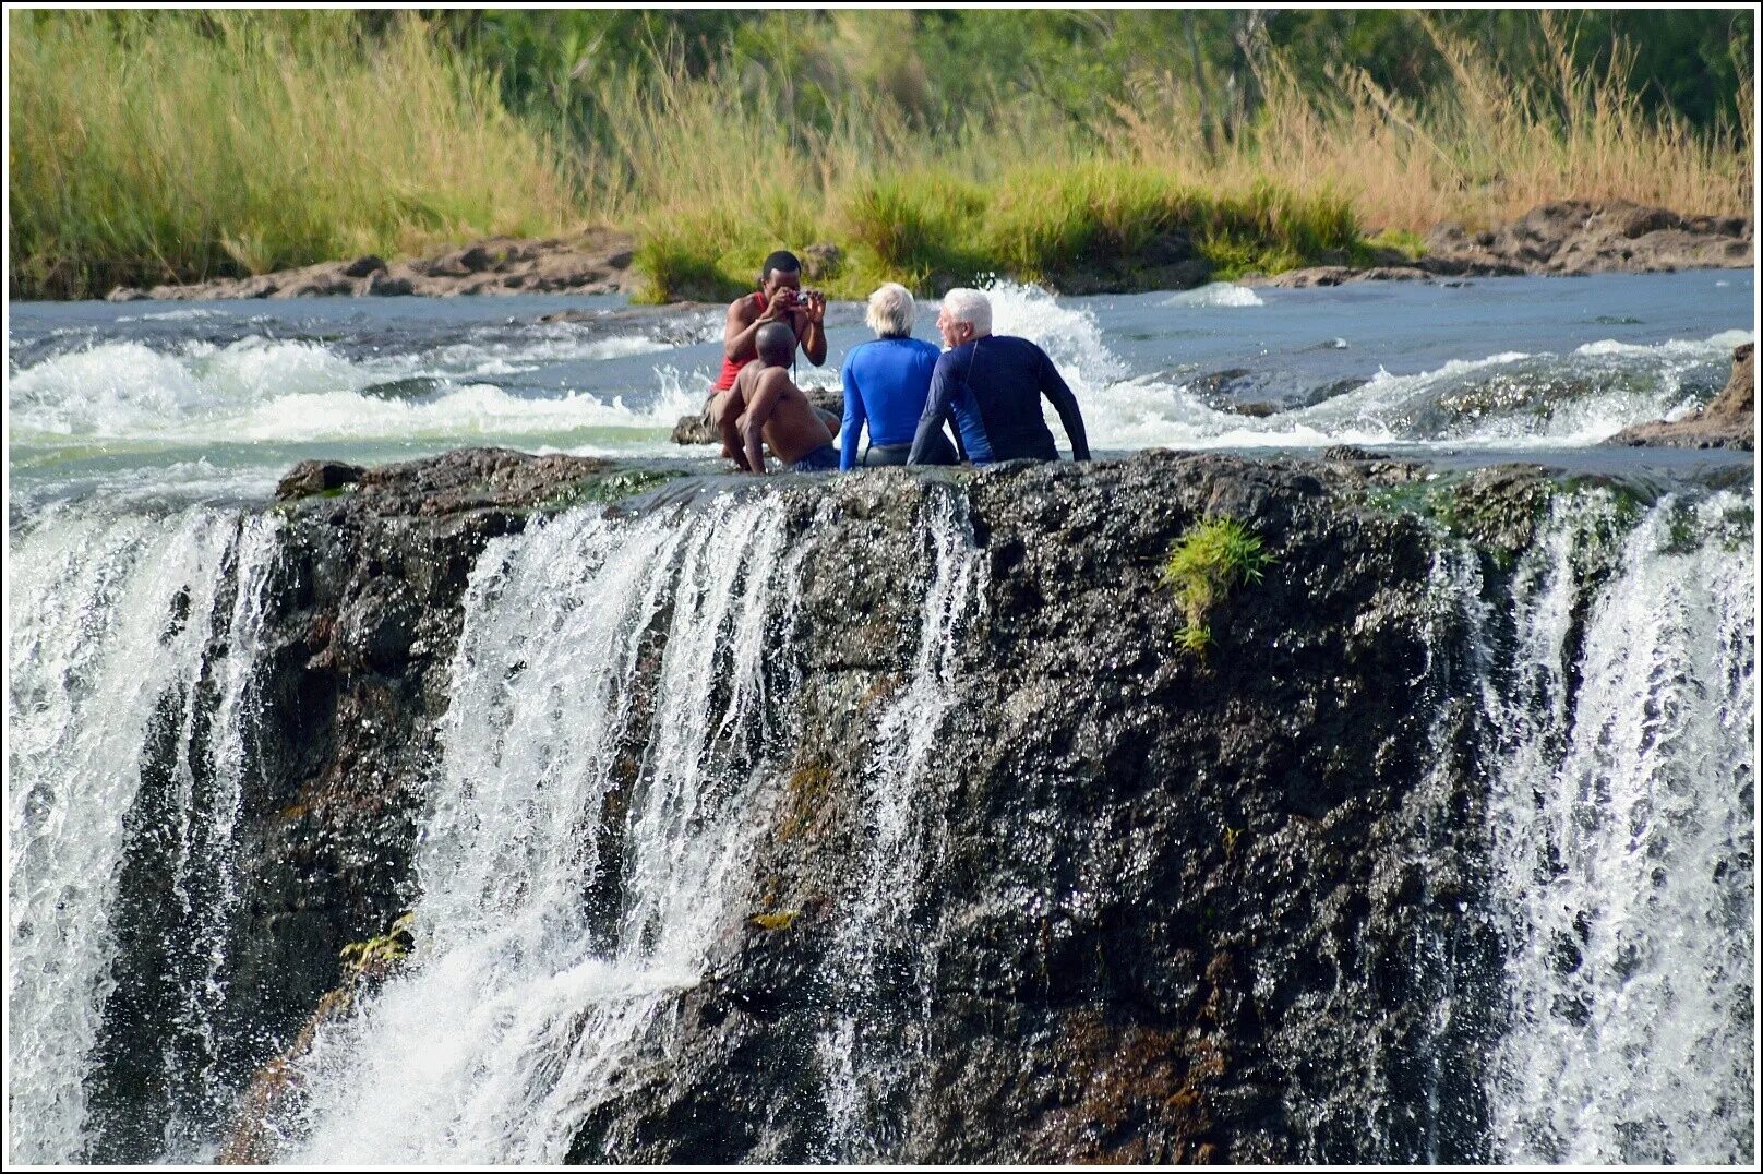
[[[908,1074],[869,1123],[883,1153],[1421,1153],[1417,1070],[1463,1040],[1426,1038],[1412,943],[1454,934],[1458,957],[1491,964],[1491,938],[1462,917],[1440,929],[1440,883],[1407,866],[1425,843],[1453,899],[1481,883],[1479,821],[1446,830],[1426,814],[1472,811],[1472,788],[1421,784],[1454,753],[1432,732],[1456,721],[1428,677],[1423,525],[1345,508],[1343,474],[1308,464],[1146,453],[966,485],[991,582],[956,730],[917,797],[940,864],[906,881],[910,940],[883,948],[896,977],[860,992]],[[802,744],[769,800],[751,903],[830,913],[785,933],[732,925],[642,1082],[589,1114],[577,1160],[804,1160],[827,1141],[816,1040],[853,980],[829,971],[829,950],[864,858],[848,763],[913,654],[917,594],[887,552],[910,541],[929,490],[882,471],[827,492],[841,509],[823,538],[850,566],[804,589]],[[1278,562],[1227,601],[1197,661],[1174,649],[1158,569],[1186,525],[1218,515]],[[915,975],[931,982],[922,1010]],[[1449,1119],[1430,1125],[1444,1153],[1474,1160],[1479,1059],[1451,1054]],[[742,1125],[707,1125],[730,1119]]]

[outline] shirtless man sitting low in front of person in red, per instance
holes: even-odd
[[[723,446],[739,453],[737,462],[748,472],[767,472],[765,446],[790,472],[837,469],[832,432],[790,379],[795,331],[783,323],[765,323],[755,346],[758,361],[742,367],[723,397]]]

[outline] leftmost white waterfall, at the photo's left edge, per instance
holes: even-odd
[[[233,825],[275,525],[192,509],[63,509],[16,536],[11,580],[7,1098],[11,1162],[88,1160],[90,1070],[120,987],[164,989],[160,1149],[212,1126],[226,1049]],[[166,892],[122,878],[164,857]],[[162,899],[169,897],[169,903]],[[166,973],[120,975],[148,901]],[[123,991],[125,999],[152,998]]]

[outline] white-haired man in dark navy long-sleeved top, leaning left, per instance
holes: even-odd
[[[1058,460],[1053,432],[1040,418],[1040,397],[1053,400],[1072,441],[1072,460],[1090,460],[1077,397],[1047,353],[1028,338],[991,333],[991,300],[978,289],[950,289],[936,316],[948,349],[936,360],[931,395],[919,418],[908,465],[922,457],[954,416],[961,448],[975,465],[998,460]]]

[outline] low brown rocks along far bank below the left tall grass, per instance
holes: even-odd
[[[354,257],[192,286],[116,287],[108,300],[624,293],[629,266],[631,238],[621,233],[598,231],[557,240],[495,236],[414,261],[388,264],[379,257]]]

